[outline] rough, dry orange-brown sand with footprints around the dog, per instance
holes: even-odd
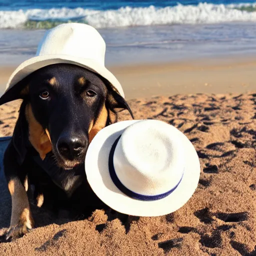
[[[136,119],[163,120],[193,143],[201,172],[189,201],[160,217],[95,209],[89,218],[74,221],[54,219],[33,206],[38,227],[0,243],[0,255],[256,255],[256,93],[128,102]],[[11,134],[18,105],[0,106],[0,135]],[[2,227],[9,221],[10,198],[0,180]]]

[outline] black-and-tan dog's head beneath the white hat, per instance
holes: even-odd
[[[132,116],[127,102],[106,79],[72,64],[52,64],[34,71],[9,89],[0,104],[16,98],[24,99],[13,133],[21,158],[20,139],[26,132],[42,159],[52,150],[65,169],[84,161],[94,135],[116,121],[116,108],[127,109]],[[27,131],[21,114],[28,123]]]

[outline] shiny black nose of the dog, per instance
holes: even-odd
[[[84,137],[62,136],[57,141],[57,148],[64,158],[73,160],[85,151],[86,144]]]

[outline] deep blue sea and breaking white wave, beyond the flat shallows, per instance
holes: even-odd
[[[50,28],[62,22],[97,28],[256,21],[250,0],[0,0],[0,28]]]

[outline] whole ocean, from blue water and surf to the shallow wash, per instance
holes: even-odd
[[[33,56],[44,30],[63,22],[97,28],[109,65],[256,52],[253,1],[0,0],[0,64]]]

